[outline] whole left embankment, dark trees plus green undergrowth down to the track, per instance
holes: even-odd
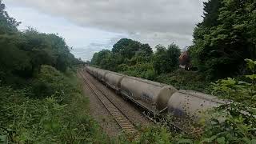
[[[0,1],[0,143],[109,142],[88,113],[63,38],[19,31]]]

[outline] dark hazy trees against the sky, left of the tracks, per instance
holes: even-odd
[[[0,79],[6,85],[24,86],[35,78],[42,65],[65,72],[79,63],[58,34],[39,33],[33,28],[20,31],[0,1]]]

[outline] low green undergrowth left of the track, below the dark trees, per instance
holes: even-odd
[[[53,67],[42,66],[39,75],[38,79],[50,83],[54,91],[48,98],[30,98],[30,87],[14,90],[0,86],[2,139],[14,143],[108,142],[98,124],[88,116],[88,99],[82,95],[74,73],[66,77]],[[58,92],[61,89],[62,93]]]

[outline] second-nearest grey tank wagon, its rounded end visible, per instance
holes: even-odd
[[[120,85],[121,93],[138,105],[155,114],[167,109],[167,102],[177,90],[159,82],[125,76]]]

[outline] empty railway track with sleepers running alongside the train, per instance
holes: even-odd
[[[79,74],[82,76],[84,81],[86,82],[86,85],[90,88],[90,90],[97,96],[100,102],[102,102],[103,106],[106,107],[106,110],[110,112],[110,114],[114,117],[115,121],[118,122],[118,125],[126,132],[126,134],[137,134],[138,130],[136,130],[133,122],[130,121],[130,119],[118,108],[118,106],[115,106],[114,102],[110,100],[102,92],[102,90],[98,90],[97,86],[95,86],[94,82],[91,82],[89,78],[86,78],[82,72],[79,72]]]

